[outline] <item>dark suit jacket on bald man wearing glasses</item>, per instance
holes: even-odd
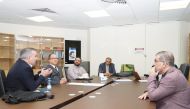
[[[56,69],[55,67],[53,67],[50,64],[47,65],[47,68],[52,69],[52,74],[49,76],[51,78],[51,84],[53,84],[53,85],[60,84],[60,80],[61,80],[61,78],[63,78],[62,69],[59,67],[57,67],[58,69]]]

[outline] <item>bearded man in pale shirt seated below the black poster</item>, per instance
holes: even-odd
[[[67,76],[69,80],[73,80],[76,78],[88,78],[88,73],[86,70],[80,66],[81,59],[75,58],[74,65],[71,65],[68,68]]]

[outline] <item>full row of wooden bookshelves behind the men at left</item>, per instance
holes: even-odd
[[[35,48],[38,59],[34,71],[48,64],[48,56],[55,53],[59,58],[58,65],[64,66],[64,38],[17,35],[0,33],[0,68],[7,71],[19,58],[23,48]]]

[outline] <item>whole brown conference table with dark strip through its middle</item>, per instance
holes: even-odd
[[[93,77],[53,86],[54,99],[20,104],[1,100],[0,109],[155,109],[155,103],[138,99],[145,89],[144,82],[115,82],[112,78],[102,82]]]

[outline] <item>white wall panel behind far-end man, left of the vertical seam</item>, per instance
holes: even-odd
[[[134,64],[138,72],[144,72],[144,53],[136,53],[135,48],[145,47],[145,25],[122,27],[101,27],[90,29],[90,62],[92,75],[98,73],[98,66],[111,57],[116,72],[121,64]]]

